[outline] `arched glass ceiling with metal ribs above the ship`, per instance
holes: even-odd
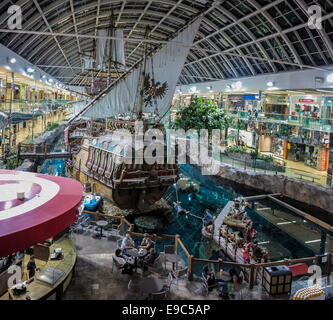
[[[9,32],[9,6],[22,8],[23,30]],[[308,8],[319,5],[322,28],[308,25]],[[166,41],[199,14],[203,21],[185,63],[181,84],[295,71],[333,64],[331,0],[13,0],[1,1],[0,43],[63,83],[89,85],[79,52],[92,52],[97,28],[111,11],[124,30],[128,67],[143,55],[145,27]],[[26,31],[32,31],[27,33]],[[66,36],[64,35],[66,34]],[[156,45],[151,44],[151,45]],[[117,74],[113,75],[117,77]]]

